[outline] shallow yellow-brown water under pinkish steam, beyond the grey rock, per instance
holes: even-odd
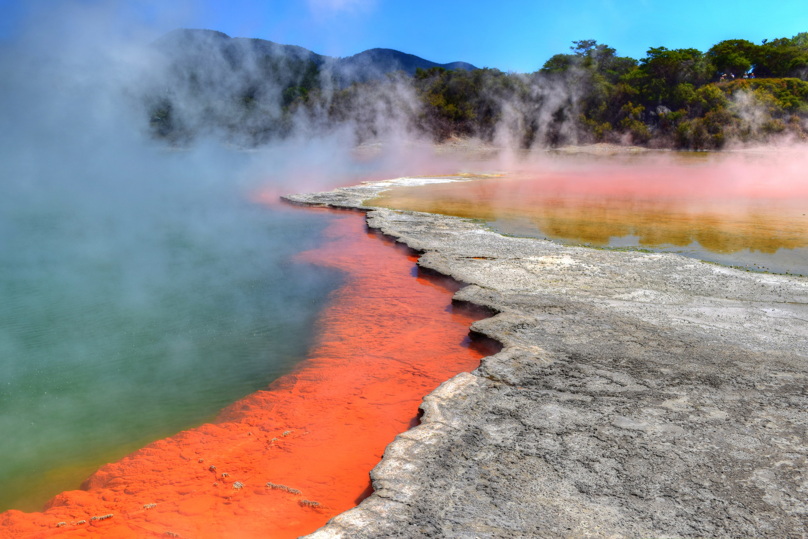
[[[501,234],[808,275],[804,161],[567,158],[489,179],[393,187],[367,203],[478,218]]]

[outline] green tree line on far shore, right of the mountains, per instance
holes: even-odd
[[[649,48],[639,60],[579,40],[533,74],[433,68],[414,84],[438,138],[490,138],[511,116],[520,128],[511,140],[524,147],[611,141],[715,149],[783,136],[805,141],[806,78],[802,32],[762,44],[725,40],[704,53]]]

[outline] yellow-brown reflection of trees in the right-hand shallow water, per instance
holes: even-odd
[[[438,193],[436,193],[438,191]],[[444,191],[441,193],[440,191]],[[641,246],[688,246],[730,254],[749,249],[771,255],[808,246],[805,218],[789,208],[713,201],[590,199],[494,192],[490,189],[406,187],[379,200],[385,206],[485,221],[532,223],[536,233],[566,242],[608,246],[637,236]],[[802,217],[802,218],[801,218]],[[526,219],[527,218],[527,219]]]

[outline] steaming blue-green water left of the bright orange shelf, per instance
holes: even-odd
[[[327,213],[250,203],[238,155],[150,159],[0,185],[0,511],[38,510],[287,372],[339,284],[290,260]]]

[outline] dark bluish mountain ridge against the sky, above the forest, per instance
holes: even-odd
[[[153,46],[168,56],[183,56],[185,59],[196,57],[196,61],[200,62],[217,51],[234,66],[241,64],[246,57],[312,61],[319,69],[335,74],[340,86],[347,86],[351,82],[378,80],[387,73],[399,70],[412,76],[418,68],[477,69],[465,61],[439,64],[392,48],[371,48],[351,57],[330,57],[297,45],[284,45],[257,38],[230,37],[216,30],[188,28],[168,32],[155,40]]]

